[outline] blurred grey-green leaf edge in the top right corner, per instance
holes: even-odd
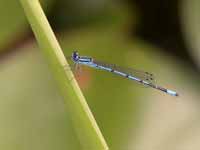
[[[183,33],[188,48],[191,50],[190,55],[200,66],[200,1],[183,0],[181,13]]]

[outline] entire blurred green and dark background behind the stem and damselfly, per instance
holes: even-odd
[[[200,1],[41,3],[66,57],[146,70],[180,94],[83,67],[77,80],[112,150],[200,149]],[[0,0],[0,18],[0,149],[80,150],[20,2]]]

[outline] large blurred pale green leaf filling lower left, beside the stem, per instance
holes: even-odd
[[[1,62],[0,149],[80,149],[41,55],[28,46]]]

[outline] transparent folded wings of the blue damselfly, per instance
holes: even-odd
[[[108,63],[104,63],[98,60],[93,60],[93,62],[98,65],[109,67],[109,68],[112,68],[113,70],[117,70],[117,71],[126,73],[128,75],[134,76],[136,78],[147,81],[149,83],[155,83],[155,77],[152,73],[137,70],[137,69],[132,69],[132,68],[120,67],[115,64],[108,64]]]

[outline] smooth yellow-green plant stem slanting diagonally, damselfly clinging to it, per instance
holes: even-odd
[[[108,150],[38,0],[20,0],[28,21],[67,104],[83,149]],[[69,67],[68,67],[69,68]]]

